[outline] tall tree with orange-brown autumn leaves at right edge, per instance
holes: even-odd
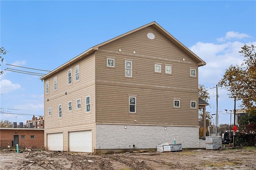
[[[248,112],[256,113],[256,51],[255,46],[244,45],[238,51],[245,57],[241,65],[231,65],[226,69],[218,85],[231,92],[230,98],[242,100]]]

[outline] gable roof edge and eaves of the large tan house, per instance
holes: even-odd
[[[125,34],[122,34],[120,36],[117,36],[115,38],[112,38],[106,42],[100,43],[98,45],[95,45],[89,49],[87,49],[86,51],[84,51],[83,53],[79,54],[78,56],[74,57],[73,59],[71,59],[70,61],[62,64],[60,67],[54,69],[53,71],[51,71],[50,73],[42,76],[40,79],[44,80],[47,77],[49,77],[50,75],[56,73],[57,71],[59,71],[60,69],[64,69],[66,67],[68,67],[70,64],[78,61],[79,59],[81,59],[82,57],[86,57],[87,55],[95,52],[98,50],[98,48],[102,45],[105,45],[107,43],[113,42],[115,40],[118,40],[119,38],[122,38],[124,36],[127,36],[129,34],[132,34],[138,30],[142,30],[143,28],[146,28],[148,26],[152,26],[153,28],[155,28],[158,32],[160,32],[162,35],[164,35],[168,40],[170,40],[170,42],[174,43],[177,47],[179,47],[182,51],[184,51],[187,55],[189,55],[190,57],[192,57],[192,59],[194,59],[195,61],[197,61],[198,63],[198,67],[202,66],[202,65],[206,65],[206,63],[200,59],[196,54],[194,54],[190,49],[188,49],[185,45],[183,45],[181,42],[179,42],[176,38],[174,38],[174,36],[172,36],[170,33],[168,33],[166,30],[164,30],[164,28],[162,28],[160,25],[158,25],[156,22],[151,22],[149,24],[146,24],[144,26],[141,26],[139,28],[136,28],[130,32],[126,32]]]

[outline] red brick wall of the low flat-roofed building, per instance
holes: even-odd
[[[17,132],[17,134],[15,134]],[[13,141],[14,135],[19,135],[19,146],[28,149],[44,149],[44,130],[38,130],[35,128],[12,128],[12,129],[0,129],[0,140],[4,144],[6,140]],[[21,136],[24,135],[25,138],[22,139]],[[31,139],[31,135],[34,135],[34,139]],[[12,143],[10,143],[10,146]],[[2,146],[6,147],[6,146]]]

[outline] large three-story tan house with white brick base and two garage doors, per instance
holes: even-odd
[[[205,148],[198,129],[202,65],[156,22],[88,49],[41,77],[46,149],[156,149],[174,139]]]

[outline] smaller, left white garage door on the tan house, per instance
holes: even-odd
[[[47,150],[63,150],[63,133],[47,134]]]

